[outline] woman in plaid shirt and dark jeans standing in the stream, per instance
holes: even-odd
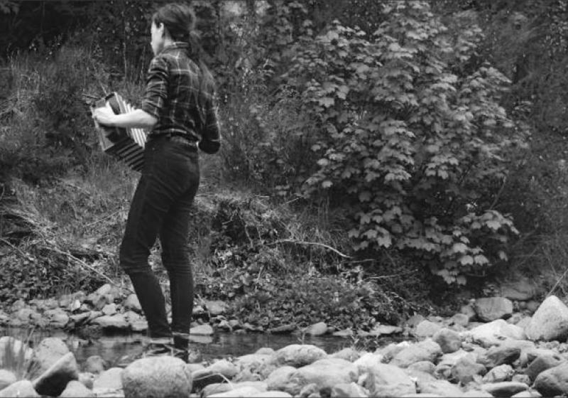
[[[187,247],[190,209],[200,181],[197,148],[219,150],[214,82],[197,59],[195,14],[184,4],[168,4],[152,16],[150,63],[141,107],[115,115],[97,109],[99,124],[149,131],[144,168],[134,193],[120,264],[131,278],[148,320],[148,353],[188,360],[193,276]],[[196,64],[199,63],[199,66]],[[159,235],[162,262],[170,278],[172,324],[148,256]]]

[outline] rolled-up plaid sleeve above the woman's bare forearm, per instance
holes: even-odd
[[[153,58],[148,68],[146,92],[140,109],[156,119],[160,118],[160,112],[168,99],[168,76],[168,62],[163,57]]]

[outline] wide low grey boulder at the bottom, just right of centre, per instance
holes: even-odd
[[[292,395],[300,393],[302,387],[315,383],[320,389],[331,389],[335,384],[356,382],[357,368],[351,362],[327,358],[298,368],[290,374],[283,390]]]

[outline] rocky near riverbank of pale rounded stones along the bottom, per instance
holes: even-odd
[[[143,358],[124,368],[107,368],[100,357],[89,357],[77,364],[73,353],[58,338],[47,338],[32,349],[4,337],[0,338],[4,358],[9,352],[11,357],[19,355],[31,363],[31,371],[18,381],[9,368],[10,361],[0,363],[0,397],[568,394],[568,307],[559,298],[546,298],[532,316],[515,313],[508,298],[479,298],[472,304],[463,306],[451,318],[414,316],[402,328],[412,338],[377,350],[346,348],[326,353],[314,345],[295,344],[187,365],[174,357]],[[123,305],[126,308],[126,303]],[[97,318],[103,316],[116,314]],[[387,331],[393,333],[392,328]]]

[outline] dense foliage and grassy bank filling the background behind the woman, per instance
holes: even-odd
[[[565,289],[566,1],[190,3],[224,131],[202,159],[200,295],[274,326],[320,305],[289,303],[307,272],[366,297],[371,327],[512,270]],[[136,104],[160,4],[0,1],[4,299],[126,283],[136,176],[99,153],[87,102]]]

